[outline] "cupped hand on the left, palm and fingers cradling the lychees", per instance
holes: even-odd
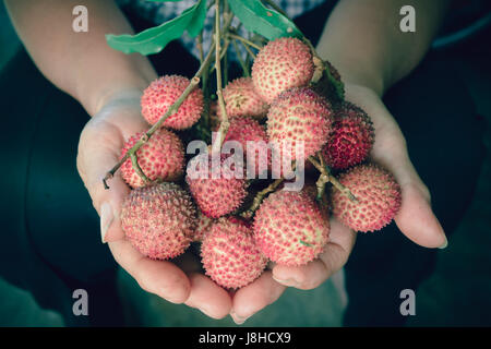
[[[124,238],[120,224],[121,204],[130,188],[116,172],[103,178],[119,160],[124,141],[148,129],[140,113],[141,92],[125,92],[111,97],[87,122],[80,143],[77,169],[100,216],[103,242],[108,242],[117,263],[147,292],[173,303],[185,303],[213,318],[229,314],[229,293],[200,273],[200,262],[192,253],[175,261],[154,261],[136,251]]]

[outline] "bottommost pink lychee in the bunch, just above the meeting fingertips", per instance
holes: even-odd
[[[220,218],[201,245],[206,275],[218,285],[236,289],[255,280],[267,258],[254,242],[251,228],[240,219]]]

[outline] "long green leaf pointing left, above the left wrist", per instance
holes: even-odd
[[[108,34],[106,35],[106,40],[110,47],[124,53],[139,52],[144,56],[158,53],[171,40],[181,37],[185,29],[190,31],[190,34],[197,35],[204,22],[203,12],[206,15],[206,0],[199,0],[179,16],[159,26],[154,26],[136,35]],[[201,27],[200,24],[196,24],[199,21],[202,21],[200,22]]]

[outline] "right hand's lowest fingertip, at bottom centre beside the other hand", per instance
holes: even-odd
[[[270,270],[264,272],[252,284],[239,289],[232,300],[230,316],[241,325],[253,314],[275,302],[285,291],[285,286],[273,279]]]

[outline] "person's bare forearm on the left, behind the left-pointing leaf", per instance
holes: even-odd
[[[105,100],[141,91],[156,77],[146,57],[111,49],[105,34],[132,33],[113,1],[7,0],[16,32],[39,70],[93,116]],[[75,5],[88,9],[88,32],[72,29]]]

